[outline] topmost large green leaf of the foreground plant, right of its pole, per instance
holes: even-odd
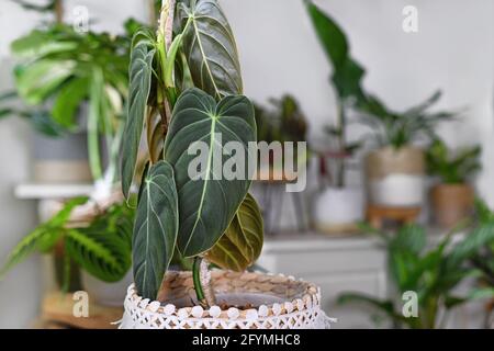
[[[183,34],[182,50],[195,87],[216,100],[243,92],[235,38],[216,0],[181,1],[176,32]]]

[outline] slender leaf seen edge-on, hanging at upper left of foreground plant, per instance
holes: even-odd
[[[153,58],[156,53],[149,38],[137,33],[135,38],[139,37],[142,39],[136,41],[131,54],[128,114],[122,150],[122,191],[127,199],[135,174],[137,151],[151,87]]]

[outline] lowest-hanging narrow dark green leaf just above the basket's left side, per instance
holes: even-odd
[[[153,165],[142,185],[132,239],[134,281],[139,294],[156,298],[173,257],[178,230],[178,197],[173,169]]]

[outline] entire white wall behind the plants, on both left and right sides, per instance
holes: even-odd
[[[42,0],[37,0],[42,3]],[[404,109],[444,90],[438,105],[469,106],[461,125],[441,133],[451,145],[482,143],[484,171],[481,193],[494,206],[493,4],[490,0],[321,0],[317,1],[346,30],[352,53],[368,69],[366,86],[390,106]],[[141,0],[68,0],[87,5],[93,27],[117,31],[133,14],[146,19]],[[302,103],[313,137],[334,120],[329,65],[321,49],[302,0],[221,0],[237,37],[246,94],[262,102],[284,92]],[[419,11],[419,32],[402,31],[402,9]],[[9,1],[0,1],[0,59],[10,42],[34,26],[37,19]],[[0,91],[8,67],[0,64]],[[23,122],[0,122],[0,258],[34,225],[33,203],[16,201],[12,186],[29,179],[30,128]],[[0,327],[26,326],[36,315],[38,270],[31,260],[0,282]],[[24,304],[14,306],[12,301]]]

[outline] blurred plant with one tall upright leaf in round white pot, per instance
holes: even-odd
[[[361,80],[364,69],[350,55],[348,39],[338,24],[312,1],[305,1],[318,39],[333,66],[332,83],[336,92],[337,124],[327,127],[336,146],[319,150],[319,173],[332,186],[324,186],[314,206],[317,229],[325,233],[352,233],[363,220],[364,196],[361,186],[349,185],[346,180],[348,159],[361,147],[360,141],[347,139],[347,110],[363,95]],[[336,165],[330,173],[327,159]],[[333,177],[332,177],[333,176]]]

